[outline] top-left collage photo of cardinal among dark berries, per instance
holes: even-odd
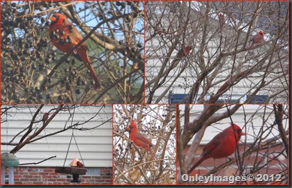
[[[143,103],[143,1],[1,1],[1,102]]]

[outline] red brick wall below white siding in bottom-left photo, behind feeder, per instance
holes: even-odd
[[[102,168],[101,175],[79,175],[80,184],[71,183],[72,174],[55,173],[54,167],[15,167],[15,185],[111,185],[112,168]],[[6,169],[8,184],[8,169]]]

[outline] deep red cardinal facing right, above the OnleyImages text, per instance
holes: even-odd
[[[236,151],[236,146],[240,141],[241,135],[245,135],[245,133],[234,123],[217,134],[209,143],[207,143],[205,148],[203,148],[201,159],[192,166],[189,173],[196,169],[196,167],[206,159],[220,159],[231,155]]]

